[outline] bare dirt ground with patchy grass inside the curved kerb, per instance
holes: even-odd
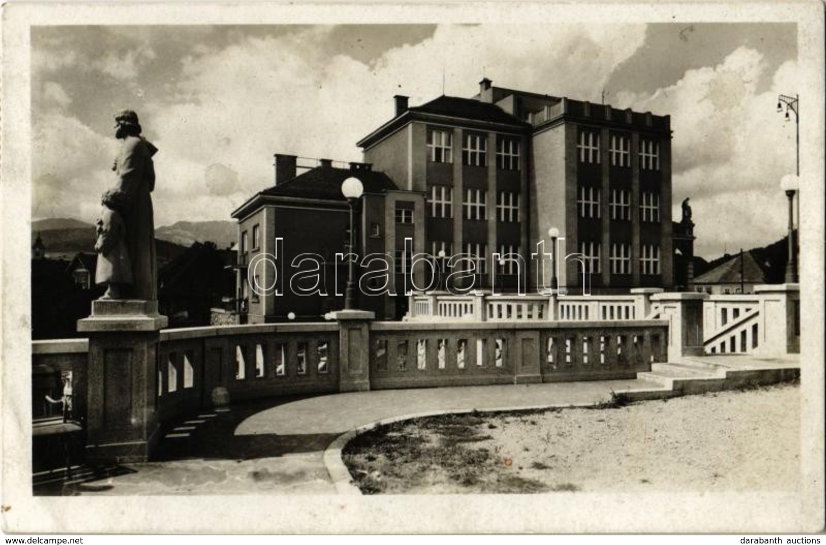
[[[800,389],[417,418],[343,454],[364,494],[795,490]]]

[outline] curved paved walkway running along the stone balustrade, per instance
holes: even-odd
[[[717,360],[741,369],[797,363],[731,356]],[[68,483],[40,485],[36,493],[335,494],[325,449],[343,433],[377,421],[472,409],[583,406],[609,400],[612,391],[657,389],[645,380],[601,380],[378,390],[234,404],[168,423],[157,461],[119,466],[108,476],[81,472]]]

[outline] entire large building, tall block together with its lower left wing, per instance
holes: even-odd
[[[379,318],[401,318],[407,289],[548,289],[553,268],[569,293],[674,286],[669,116],[497,88],[489,79],[472,98],[418,107],[394,99],[392,119],[358,141],[362,163],[319,160],[298,174],[297,157],[278,154],[273,187],[232,214],[237,298],[249,322],[318,319],[342,307],[346,267],[335,254],[349,232],[341,194],[349,176],[364,185],[353,250],[389,264],[382,295],[365,296],[368,284],[384,284],[370,265],[356,269],[357,281],[369,277],[359,285],[360,308]],[[286,272],[255,261],[278,251]],[[326,289],[298,296],[288,289],[301,291],[289,284],[289,267],[305,255]]]

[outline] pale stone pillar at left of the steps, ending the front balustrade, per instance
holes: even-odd
[[[708,294],[653,294],[660,304],[662,319],[668,320],[668,361],[683,356],[703,356],[703,301]]]

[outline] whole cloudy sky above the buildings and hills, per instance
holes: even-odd
[[[356,142],[443,92],[496,86],[672,117],[673,214],[695,254],[786,232],[794,24],[40,26],[31,33],[32,218],[93,222],[115,179],[113,116],[159,148],[155,225],[230,220],[273,154],[361,160]],[[443,87],[444,86],[444,87]]]

